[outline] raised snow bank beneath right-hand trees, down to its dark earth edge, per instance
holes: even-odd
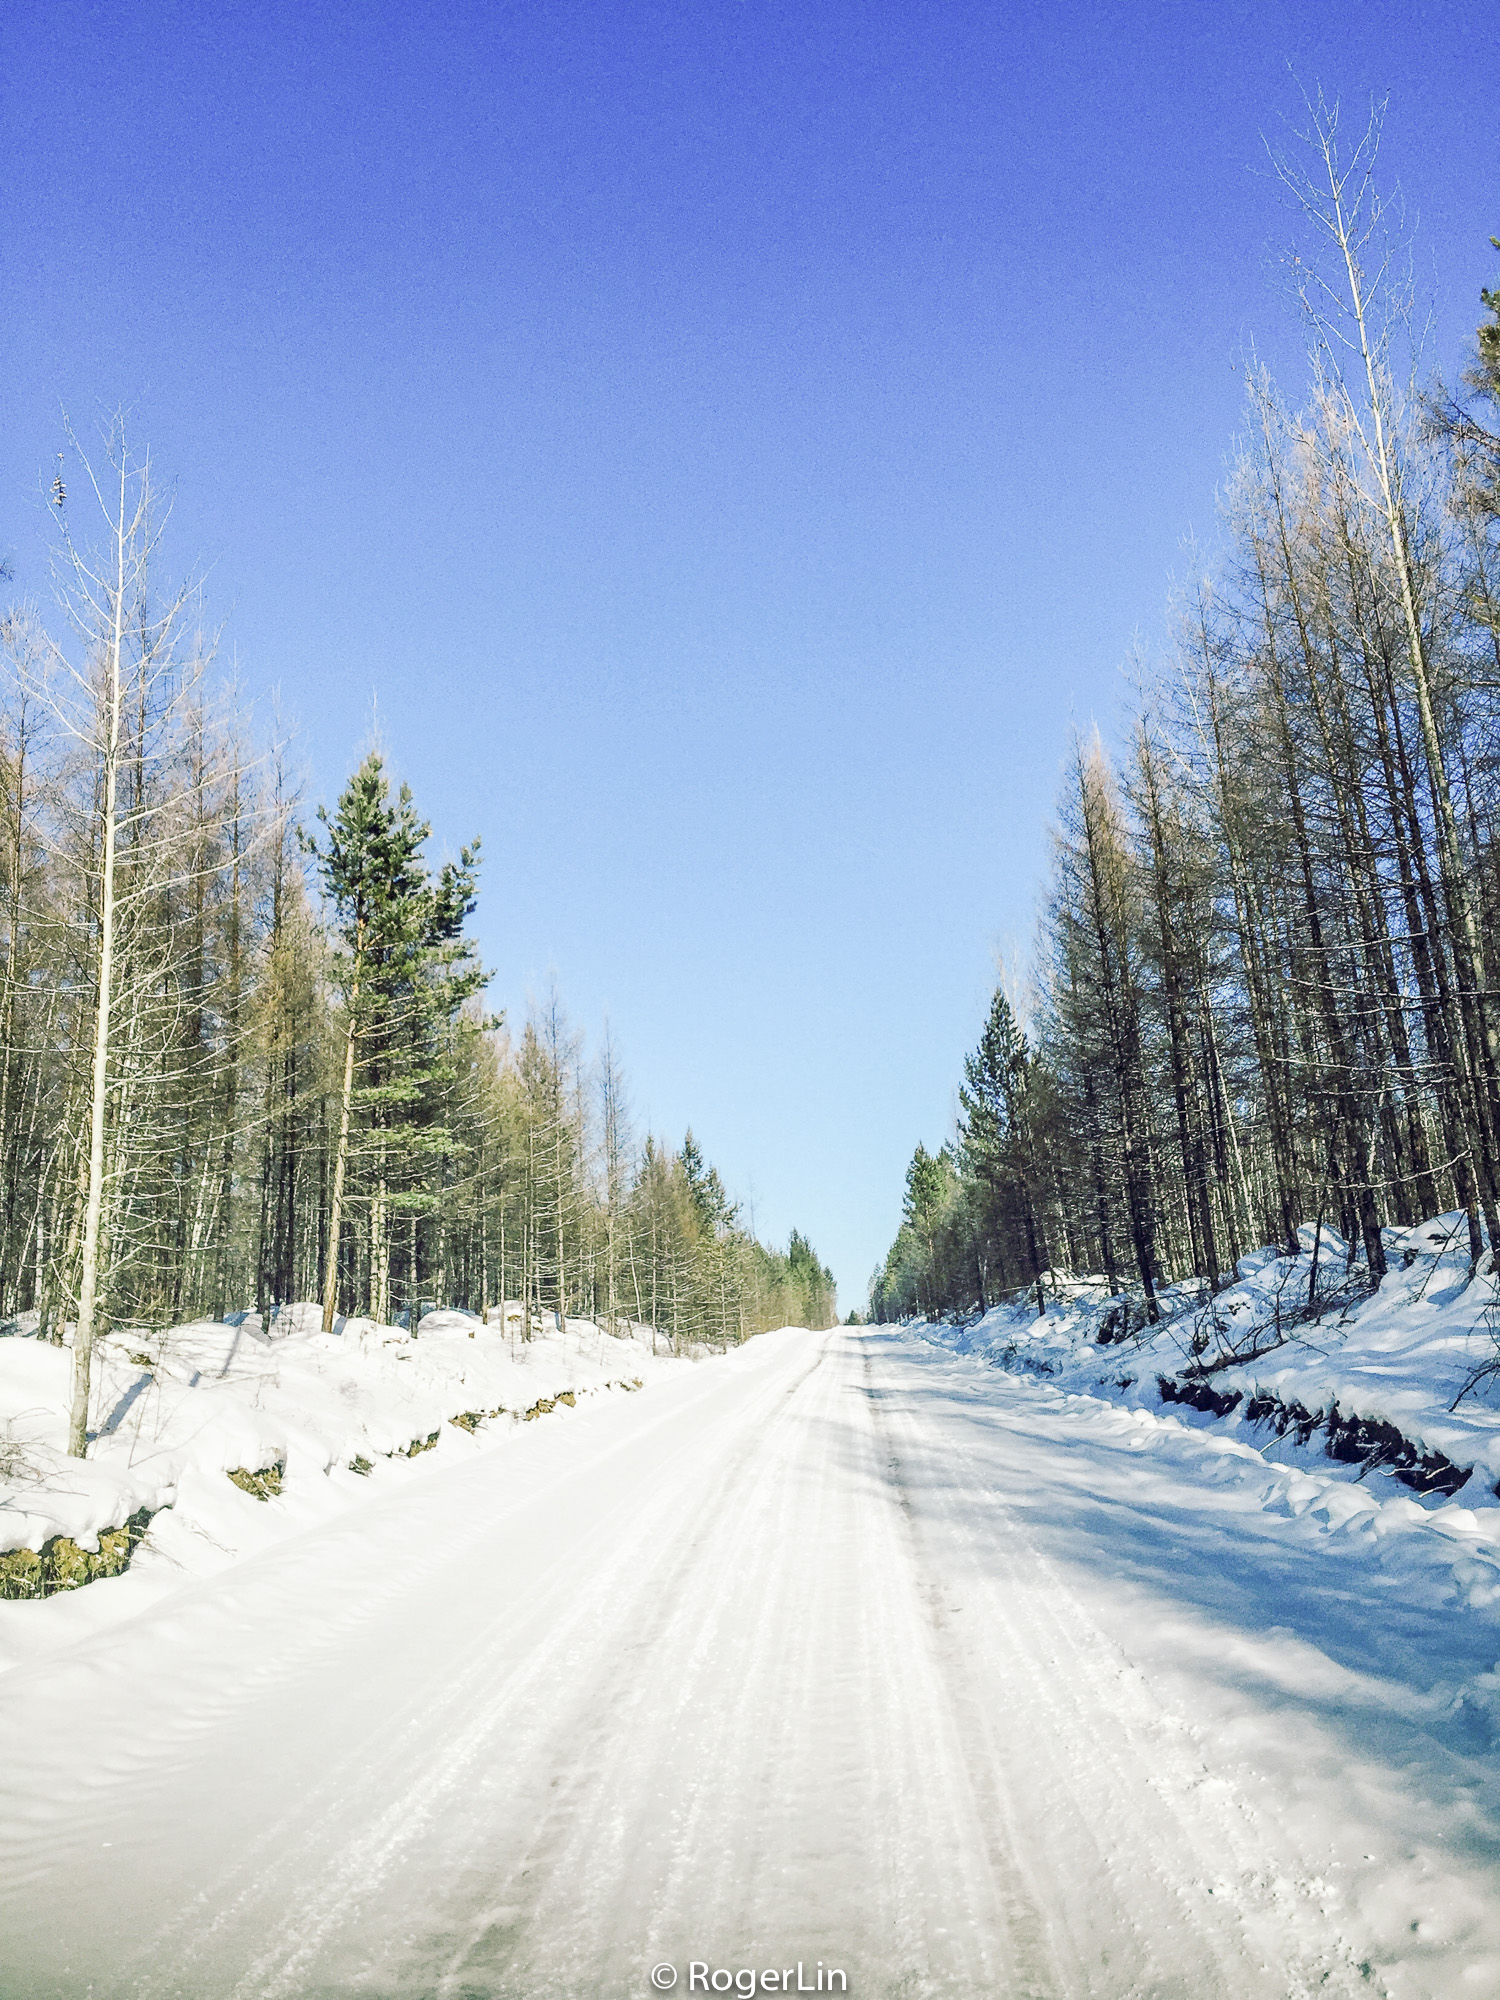
[[[1048,1274],[1042,1316],[1026,1294],[924,1332],[1064,1392],[1128,1410],[1170,1402],[1174,1422],[1240,1440],[1270,1464],[1366,1486],[1368,1506],[1392,1484],[1418,1510],[1462,1490],[1448,1512],[1480,1518],[1478,1532],[1500,1544],[1500,1376],[1474,1384],[1500,1358],[1500,1286],[1484,1268],[1470,1280],[1462,1224],[1450,1214],[1386,1230],[1390,1270],[1374,1292],[1360,1264],[1346,1270],[1338,1236],[1304,1224],[1296,1258],[1256,1250],[1212,1298],[1198,1286],[1162,1292],[1154,1328],[1104,1280]],[[1364,1500],[1330,1504],[1348,1518]]]

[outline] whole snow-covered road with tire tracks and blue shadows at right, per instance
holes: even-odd
[[[1444,1626],[1258,1464],[884,1328],[434,1462],[0,1680],[0,1990],[1496,1994]]]

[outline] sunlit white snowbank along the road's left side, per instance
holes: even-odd
[[[514,1332],[514,1330],[512,1330]],[[164,1334],[122,1330],[94,1356],[88,1458],[64,1454],[70,1354],[0,1338],[0,1556],[152,1514],[124,1576],[40,1602],[0,1602],[0,1668],[128,1616],[186,1576],[224,1568],[322,1522],[390,1480],[492,1450],[558,1398],[618,1394],[688,1366],[654,1356],[646,1330],[568,1320],[532,1340],[462,1312],[418,1332],[338,1320],[316,1306],[238,1324],[196,1320]],[[544,1406],[538,1410],[538,1404]],[[272,1472],[268,1504],[230,1474]]]

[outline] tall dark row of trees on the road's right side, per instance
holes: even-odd
[[[1026,1020],[996,992],[916,1150],[882,1318],[1066,1268],[1154,1320],[1318,1220],[1354,1282],[1388,1224],[1500,1246],[1500,288],[1422,384],[1378,122],[1314,110],[1306,398],[1248,374],[1222,552],[1120,752],[1074,742]]]

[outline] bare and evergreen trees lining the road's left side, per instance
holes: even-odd
[[[586,1060],[556,992],[518,1032],[484,1010],[478,844],[434,866],[378,752],[304,812],[198,592],[162,588],[118,428],[52,508],[58,612],[0,620],[0,1320],[72,1324],[72,1450],[112,1324],[830,1324],[806,1238],[766,1248],[692,1134],[636,1134],[608,1032]]]

